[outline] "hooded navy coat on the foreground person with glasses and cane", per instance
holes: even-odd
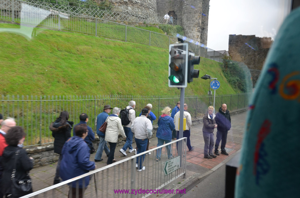
[[[90,170],[95,169],[95,162],[89,161],[90,149],[86,142],[79,136],[73,136],[70,138],[62,148],[61,165],[60,165],[60,177],[64,181],[72,179],[76,176],[88,173]],[[86,176],[84,179],[84,187],[88,186],[90,177]],[[79,182],[79,188],[83,188],[83,179],[72,182],[72,187],[76,188],[77,181]]]

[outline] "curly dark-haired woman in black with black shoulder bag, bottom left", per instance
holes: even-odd
[[[13,169],[16,169],[16,180],[30,179],[27,173],[33,168],[33,158],[29,158],[26,151],[21,148],[25,140],[25,135],[22,127],[16,126],[11,127],[5,136],[8,146],[4,149],[1,160],[3,166],[1,189],[5,197],[16,197],[12,194],[11,189],[13,185],[11,180]],[[19,152],[18,155],[16,155],[17,151]],[[29,193],[32,193],[32,189],[22,196]]]

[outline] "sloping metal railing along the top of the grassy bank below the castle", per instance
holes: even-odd
[[[25,8],[21,10],[22,3],[28,5],[26,6],[27,10],[25,10]],[[40,8],[39,12],[37,12],[37,8]],[[44,10],[44,12],[41,10]],[[121,15],[118,15],[120,18],[114,18],[113,16],[115,15],[101,13],[101,15],[97,15],[97,17],[92,17],[21,0],[0,0],[0,19],[20,22],[27,26],[41,26],[95,36],[104,36],[125,42],[135,42],[166,49],[169,48],[170,44],[177,42],[177,37],[174,36],[113,22],[127,20],[126,18],[122,18]],[[156,22],[154,22],[153,19],[150,20],[149,23]],[[219,62],[224,56],[217,51],[204,47],[199,42],[189,42],[189,50],[193,51],[195,55]]]

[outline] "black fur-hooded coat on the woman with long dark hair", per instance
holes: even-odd
[[[68,121],[66,124],[59,123],[60,118],[52,122],[49,129],[52,131],[52,136],[54,137],[54,153],[61,154],[62,147],[64,143],[71,137],[71,130],[74,122]]]

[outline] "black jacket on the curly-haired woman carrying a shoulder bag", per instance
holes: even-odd
[[[4,149],[3,155],[1,157],[3,167],[1,190],[3,194],[11,193],[12,183],[10,177],[11,172],[15,167],[16,150],[18,149],[20,150],[20,153],[16,162],[16,180],[30,179],[29,176],[27,176],[27,171],[33,168],[32,160],[29,159],[24,149],[8,145]]]

